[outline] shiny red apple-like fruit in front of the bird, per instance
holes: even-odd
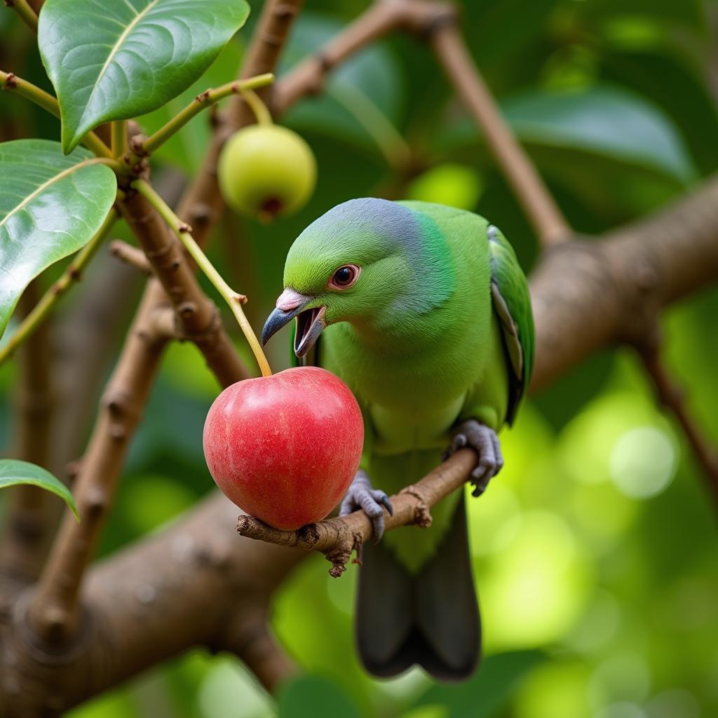
[[[228,386],[205,420],[205,460],[243,511],[294,530],[325,518],[359,467],[361,411],[348,386],[317,367]]]

